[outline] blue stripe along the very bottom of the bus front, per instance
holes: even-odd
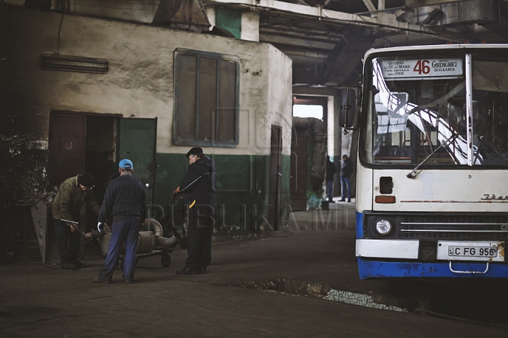
[[[452,273],[449,262],[421,263],[421,262],[384,262],[372,261],[357,257],[358,273],[361,280],[369,277],[461,277],[461,278],[508,278],[507,263],[490,263],[486,273]],[[486,263],[452,263],[456,271],[485,271]]]

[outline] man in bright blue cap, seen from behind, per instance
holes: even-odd
[[[143,184],[136,180],[132,173],[134,165],[131,160],[123,159],[119,163],[120,177],[111,180],[104,194],[104,201],[99,211],[99,224],[107,219],[111,224],[111,239],[108,255],[104,261],[95,283],[109,284],[114,270],[119,264],[120,249],[125,242],[126,256],[123,262],[123,282],[132,283],[134,279],[136,250],[140,225],[145,220],[146,192]],[[97,225],[99,226],[99,225]]]

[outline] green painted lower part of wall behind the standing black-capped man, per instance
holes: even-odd
[[[270,156],[213,155],[217,169],[217,204],[219,230],[259,230],[267,220],[267,194],[270,184]],[[281,204],[290,204],[290,156],[282,156]],[[155,173],[155,204],[173,204],[172,193],[179,186],[188,168],[184,154],[157,153]]]

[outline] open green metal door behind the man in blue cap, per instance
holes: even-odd
[[[153,203],[157,118],[123,118],[119,128],[119,159],[134,163],[134,177],[143,183],[147,203]]]

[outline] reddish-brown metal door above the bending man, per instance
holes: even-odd
[[[86,116],[52,113],[49,128],[49,187],[54,187],[85,170]]]

